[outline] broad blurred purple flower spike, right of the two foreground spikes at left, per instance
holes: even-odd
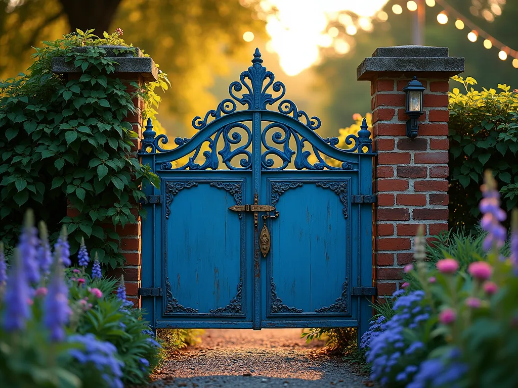
[[[44,323],[50,331],[52,341],[62,341],[65,338],[63,326],[68,322],[70,307],[68,306],[68,288],[63,277],[63,267],[60,262],[59,248],[54,252],[55,260],[51,279],[45,297]]]

